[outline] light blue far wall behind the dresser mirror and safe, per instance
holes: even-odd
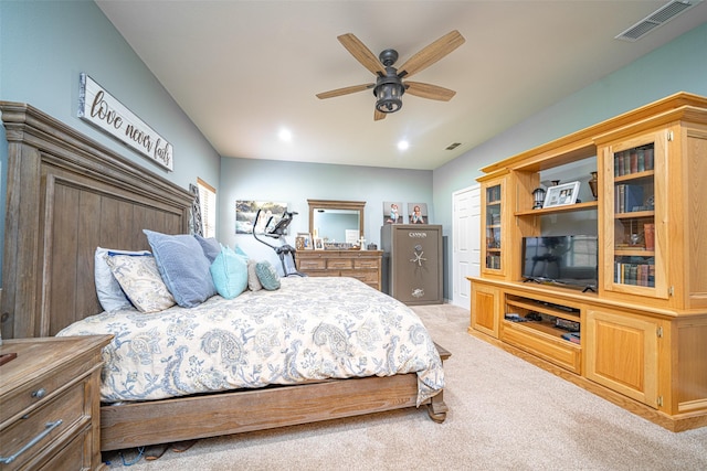
[[[432,171],[399,170],[373,167],[331,165],[323,163],[276,162],[254,159],[221,159],[219,205],[219,239],[239,245],[254,258],[279,260],[275,251],[251,235],[235,235],[235,202],[238,200],[276,201],[287,203],[298,213],[289,234],[309,231],[307,200],[365,201],[365,237],[380,247],[383,201],[428,203],[432,207]],[[434,213],[430,211],[430,221]],[[408,221],[408,216],[404,217]],[[292,236],[287,237],[294,245]]]

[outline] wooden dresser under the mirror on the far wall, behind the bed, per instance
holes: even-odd
[[[381,289],[382,250],[298,250],[297,270],[310,277],[351,277]]]

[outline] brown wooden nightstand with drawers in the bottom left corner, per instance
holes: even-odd
[[[112,335],[6,340],[0,354],[0,468],[104,468],[101,349]]]

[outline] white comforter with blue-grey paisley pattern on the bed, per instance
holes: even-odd
[[[418,315],[354,278],[288,277],[190,309],[104,312],[57,335],[105,333],[115,335],[103,350],[105,403],[415,372],[420,405],[444,386]]]

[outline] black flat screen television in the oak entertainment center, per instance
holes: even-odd
[[[598,237],[524,237],[523,277],[526,281],[595,290],[599,282]]]

